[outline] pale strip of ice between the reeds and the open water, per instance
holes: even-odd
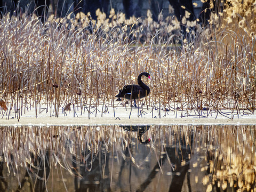
[[[154,107],[147,110],[146,107],[141,109],[141,107],[131,108],[120,105],[105,107],[100,105],[97,109],[94,106],[86,107],[82,113],[79,107],[71,107],[70,111],[59,109],[59,117],[55,117],[54,109],[48,109],[46,113],[44,107],[41,105],[41,111],[37,111],[37,117],[36,109],[32,107],[25,113],[23,111],[19,119],[17,118],[18,114],[14,111],[11,111],[10,114],[9,111],[3,112],[0,125],[256,125],[256,115],[250,111],[240,111],[239,113],[237,111],[232,113],[231,110],[164,111]]]

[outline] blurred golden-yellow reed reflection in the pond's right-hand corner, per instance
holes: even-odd
[[[220,128],[214,136],[218,143],[207,146],[207,173],[211,173],[207,189],[255,190],[255,127]]]

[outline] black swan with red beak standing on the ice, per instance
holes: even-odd
[[[135,99],[146,97],[146,94],[148,95],[150,92],[150,88],[141,81],[142,75],[150,78],[150,75],[146,72],[141,73],[138,76],[138,84],[139,85],[124,85],[122,90],[119,90],[119,93],[115,96],[117,98],[125,98],[125,99],[133,99],[134,100],[134,106],[136,106]]]

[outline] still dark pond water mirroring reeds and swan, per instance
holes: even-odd
[[[255,125],[0,127],[0,191],[255,191]]]

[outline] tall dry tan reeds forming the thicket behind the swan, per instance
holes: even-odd
[[[97,11],[97,21],[81,13],[45,23],[35,14],[5,14],[0,99],[9,110],[37,103],[111,106],[123,85],[147,71],[149,106],[253,113],[256,3],[226,1],[223,7],[205,27],[185,18],[185,36],[177,19],[159,15],[155,22],[150,12],[127,20]]]

